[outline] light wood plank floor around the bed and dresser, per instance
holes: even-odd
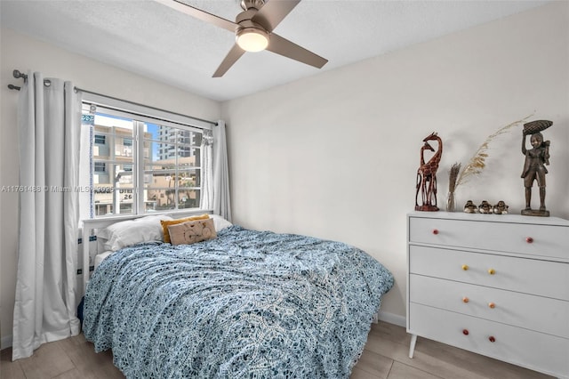
[[[404,327],[373,324],[364,354],[350,379],[533,379],[548,375],[419,338],[413,359],[407,357],[410,336]],[[109,351],[96,354],[84,335],[45,343],[28,359],[11,361],[2,351],[2,379],[114,379],[124,375],[113,366]]]

